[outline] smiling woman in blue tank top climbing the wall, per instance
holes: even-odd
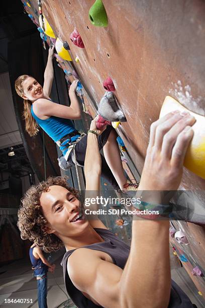
[[[38,133],[40,126],[60,147],[63,156],[59,160],[59,166],[72,167],[74,161],[73,145],[77,164],[84,166],[87,135],[81,138],[71,120],[80,119],[80,107],[75,93],[78,81],[75,80],[69,89],[70,106],[54,103],[50,99],[53,83],[53,48],[49,49],[48,62],[44,73],[43,87],[29,75],[21,75],[16,80],[17,94],[24,99],[24,118],[26,131],[30,136]],[[116,141],[117,134],[112,126],[109,126],[98,136],[98,147],[103,148],[104,156],[101,156],[101,175],[114,189],[137,190],[138,184],[130,183],[124,174],[119,147]],[[94,151],[90,153],[95,155]],[[63,168],[64,168],[63,167]]]

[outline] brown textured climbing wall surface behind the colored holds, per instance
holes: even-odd
[[[73,62],[62,67],[75,67],[92,116],[105,93],[102,83],[111,76],[115,95],[127,118],[119,134],[141,173],[150,124],[158,119],[165,96],[170,95],[190,110],[205,115],[205,3],[104,0],[106,28],[90,23],[88,11],[93,3],[94,0],[44,0],[42,10],[56,37],[69,43]],[[31,5],[38,10],[37,0],[32,0]],[[75,27],[84,49],[70,41]],[[74,61],[76,56],[78,64]],[[184,169],[181,189],[197,190],[195,198],[205,208],[205,180]],[[204,268],[204,228],[185,222],[175,222],[175,227],[182,228],[189,240],[189,246],[181,246],[181,251],[194,258],[192,265]],[[205,296],[204,279],[193,280]]]

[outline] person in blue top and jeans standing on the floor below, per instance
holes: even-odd
[[[29,256],[37,279],[39,308],[47,308],[47,272],[53,273],[55,264],[50,264],[35,244],[30,247]]]

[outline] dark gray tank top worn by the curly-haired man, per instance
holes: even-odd
[[[83,246],[83,248],[107,253],[111,256],[115,265],[124,269],[129,257],[130,247],[108,229],[94,228],[94,230],[102,239],[104,239],[105,242]],[[74,251],[75,249],[67,251],[61,261],[66,291],[78,308],[100,308],[101,306],[94,304],[91,300],[85,297],[70,280],[67,272],[67,261]],[[172,287],[168,308],[193,308],[189,298],[173,280],[171,281],[171,285]]]

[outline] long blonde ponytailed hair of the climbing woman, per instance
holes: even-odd
[[[22,87],[22,83],[28,78],[31,77],[29,75],[21,75],[17,78],[15,82],[15,89],[17,94],[22,97],[24,94],[24,90]],[[32,117],[31,114],[31,102],[29,100],[24,100],[24,112],[23,118],[25,119],[25,127],[26,131],[29,133],[30,136],[37,135],[39,129],[38,124],[36,123],[35,119]]]

